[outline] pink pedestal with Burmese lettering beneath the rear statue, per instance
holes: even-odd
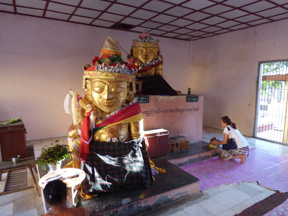
[[[202,140],[203,96],[198,102],[186,102],[186,96],[150,95],[148,104],[140,104],[144,130],[162,128],[169,137],[182,135],[190,142]]]

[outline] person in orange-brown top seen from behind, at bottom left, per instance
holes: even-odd
[[[53,180],[46,184],[44,190],[45,202],[50,205],[51,211],[41,216],[89,216],[83,208],[68,208],[66,184],[61,180]]]

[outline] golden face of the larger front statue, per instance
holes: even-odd
[[[91,96],[93,104],[103,112],[111,113],[127,100],[129,85],[128,82],[89,79],[86,81],[91,86]]]

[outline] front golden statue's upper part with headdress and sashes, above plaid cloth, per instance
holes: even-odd
[[[73,90],[65,99],[64,107],[72,106],[72,110],[66,109],[66,112],[73,115],[68,145],[74,152],[73,161],[66,167],[80,167],[80,135],[81,140],[86,137],[86,142],[123,142],[143,137],[142,112],[134,98],[137,66],[124,65],[119,48],[119,42],[108,37],[100,58],[95,57],[91,65],[84,66],[84,99]],[[85,118],[90,122],[86,129]]]

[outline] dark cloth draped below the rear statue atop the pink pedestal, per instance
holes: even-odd
[[[178,95],[177,92],[160,75],[137,77],[142,82],[142,95]]]

